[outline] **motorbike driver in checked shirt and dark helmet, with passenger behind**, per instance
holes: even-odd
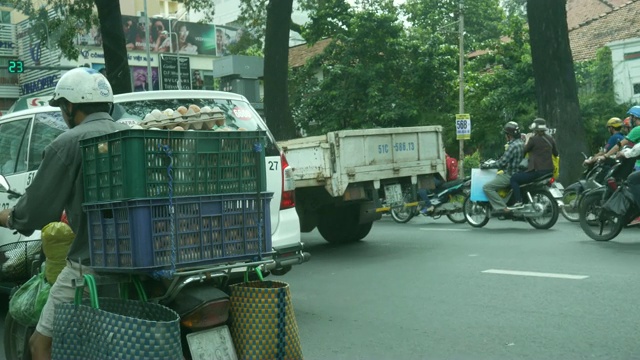
[[[498,194],[498,190],[509,186],[511,175],[519,170],[520,162],[524,158],[524,141],[520,136],[520,126],[514,121],[509,121],[502,128],[509,146],[504,154],[492,167],[502,169],[493,180],[484,184],[484,190],[494,211],[510,211],[504,199]]]

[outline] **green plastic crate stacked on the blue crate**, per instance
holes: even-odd
[[[265,142],[265,131],[138,129],[82,140],[85,203],[167,197],[170,164],[173,196],[266,191]]]

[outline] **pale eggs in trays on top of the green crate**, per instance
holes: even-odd
[[[153,110],[147,114],[139,124],[143,129],[166,130],[235,130],[226,126],[224,112],[217,106],[210,108],[191,104],[189,107],[180,106],[177,109]],[[244,130],[242,128],[238,130]]]

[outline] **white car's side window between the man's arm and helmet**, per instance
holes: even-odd
[[[44,149],[65,130],[67,130],[67,125],[62,119],[60,111],[36,114],[31,135],[31,148],[29,149],[29,171],[38,170]]]

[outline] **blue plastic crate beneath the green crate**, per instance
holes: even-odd
[[[273,193],[261,197],[260,211],[257,194],[251,193],[174,198],[176,268],[260,260],[270,254]],[[85,204],[84,209],[93,268],[112,272],[172,268],[168,198]]]

